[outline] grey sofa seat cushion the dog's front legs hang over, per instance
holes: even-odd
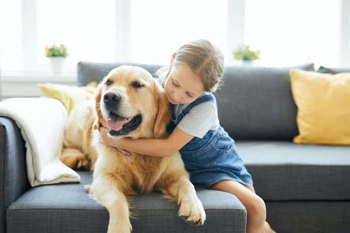
[[[37,186],[24,193],[7,209],[7,232],[105,233],[108,212],[83,187],[91,184],[92,175],[78,174],[80,183]],[[132,196],[130,203],[136,216],[131,219],[133,232],[245,232],[246,211],[235,196],[213,190],[197,190],[197,196],[206,213],[200,227],[177,217],[177,204],[162,198],[159,192]]]

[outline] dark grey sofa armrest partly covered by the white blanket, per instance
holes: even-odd
[[[0,232],[6,232],[6,210],[30,188],[25,146],[16,123],[0,117]]]

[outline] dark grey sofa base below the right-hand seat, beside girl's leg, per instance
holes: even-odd
[[[265,202],[267,222],[277,233],[349,233],[348,201]]]

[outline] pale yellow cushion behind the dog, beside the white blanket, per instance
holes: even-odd
[[[53,83],[39,83],[37,86],[44,95],[61,101],[69,114],[75,105],[91,99],[97,82],[90,82],[81,87]]]

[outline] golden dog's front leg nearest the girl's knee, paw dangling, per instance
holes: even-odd
[[[182,172],[183,173],[183,172]],[[174,172],[181,174],[181,172]],[[174,174],[168,179],[174,180]],[[194,187],[187,177],[178,176],[175,182],[172,182],[163,190],[166,196],[170,196],[177,201],[179,206],[178,216],[183,218],[190,225],[203,225],[205,220],[205,212],[202,203],[197,198]]]

